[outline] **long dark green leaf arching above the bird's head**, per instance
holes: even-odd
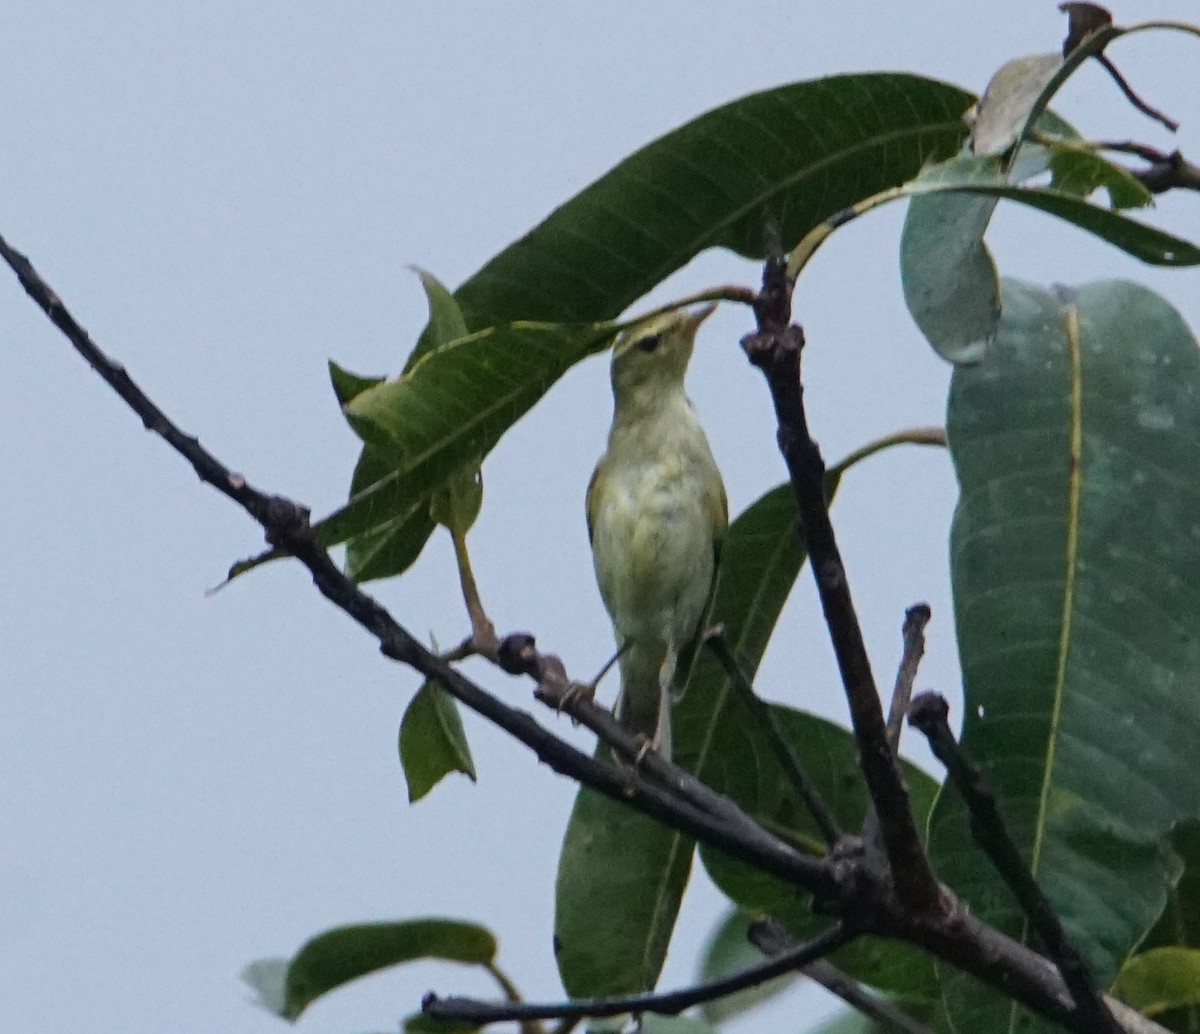
[[[491,259],[455,293],[462,318],[472,330],[516,320],[598,323],[706,248],[762,256],[768,238],[798,238],[953,154],[972,100],[944,83],[894,73],[838,76],[743,97],[642,148]],[[439,347],[439,325],[434,314],[406,378]],[[472,386],[478,371],[460,365],[464,357],[440,363],[457,386],[443,384],[413,404],[436,408],[448,386],[474,405],[506,390],[491,380]],[[563,359],[536,348],[522,356],[532,399],[504,409],[506,422],[481,435],[485,455],[562,374]],[[360,429],[368,438],[374,432]],[[350,504],[318,525],[325,545],[356,537],[349,567],[364,579],[403,570],[431,529],[419,500],[406,494],[413,477],[395,473],[403,457],[390,456],[390,464],[377,458],[364,456]],[[427,474],[424,481],[436,485],[449,468],[438,462]]]

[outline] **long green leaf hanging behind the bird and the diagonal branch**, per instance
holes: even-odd
[[[829,471],[832,494],[842,473],[905,443],[941,444],[929,428],[872,441]],[[804,552],[788,485],[761,497],[730,525],[721,545],[713,620],[752,674],[767,648]],[[701,656],[672,715],[678,764],[721,789],[724,741],[742,735],[742,708],[724,672]],[[736,726],[736,728],[734,728]],[[766,750],[766,747],[763,747]],[[581,790],[558,865],[556,940],[563,986],[576,998],[653,987],[691,865],[692,842],[638,812]]]

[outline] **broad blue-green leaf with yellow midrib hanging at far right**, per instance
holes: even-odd
[[[1134,284],[1007,283],[947,429],[964,746],[1106,984],[1177,876],[1164,838],[1200,812],[1200,351]],[[1027,937],[954,794],[930,846],[977,915]],[[946,984],[959,1029],[1014,1029],[1010,1003]]]

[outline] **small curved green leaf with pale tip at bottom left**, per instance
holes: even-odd
[[[496,958],[496,938],[482,926],[452,919],[341,926],[314,937],[290,961],[252,962],[242,979],[265,1009],[295,1020],[343,984],[422,958],[488,966]]]

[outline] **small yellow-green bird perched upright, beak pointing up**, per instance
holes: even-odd
[[[714,308],[654,317],[617,339],[608,449],[588,486],[592,560],[620,651],[617,716],[668,759],[676,667],[702,632],[730,519],[683,386]]]

